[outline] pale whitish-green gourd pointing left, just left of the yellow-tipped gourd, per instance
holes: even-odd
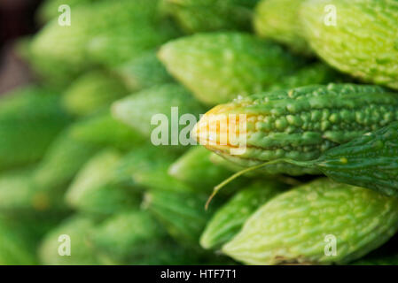
[[[188,90],[175,83],[144,89],[113,103],[112,106],[115,119],[121,120],[144,136],[151,137],[152,143],[175,149],[187,148],[180,139],[186,127],[186,141],[191,142],[189,126],[193,125],[191,121],[187,122],[188,125],[183,125],[180,118],[184,114],[191,114],[198,119],[199,114],[204,111],[203,106]],[[178,125],[177,131],[172,130],[174,125]],[[157,130],[154,131],[155,129]]]

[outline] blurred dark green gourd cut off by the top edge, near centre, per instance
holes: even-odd
[[[164,0],[163,9],[186,33],[249,30],[258,0]]]

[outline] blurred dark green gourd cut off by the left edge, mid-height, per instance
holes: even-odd
[[[59,96],[39,87],[0,98],[0,171],[39,161],[71,119]]]

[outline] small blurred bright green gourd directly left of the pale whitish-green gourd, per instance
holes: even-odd
[[[74,139],[101,147],[113,147],[122,151],[130,150],[146,139],[112,117],[109,111],[99,111],[82,119],[71,128]]]

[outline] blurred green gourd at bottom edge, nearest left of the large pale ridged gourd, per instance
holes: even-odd
[[[107,264],[199,264],[199,255],[177,246],[149,213],[140,210],[107,218],[90,233],[90,241]]]

